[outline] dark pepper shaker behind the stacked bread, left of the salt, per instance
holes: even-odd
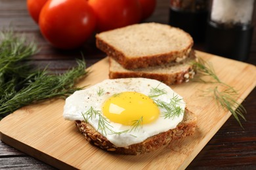
[[[183,29],[195,42],[202,42],[205,39],[207,9],[207,0],[171,0],[169,25]]]

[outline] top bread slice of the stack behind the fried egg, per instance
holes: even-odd
[[[192,37],[182,29],[154,22],[96,34],[96,46],[125,69],[145,68],[186,58],[193,43]]]

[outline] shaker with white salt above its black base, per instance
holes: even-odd
[[[253,37],[254,0],[213,0],[205,50],[211,54],[245,61]]]

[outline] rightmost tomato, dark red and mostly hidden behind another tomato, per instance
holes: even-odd
[[[142,20],[148,18],[156,9],[156,0],[139,0],[142,10]]]

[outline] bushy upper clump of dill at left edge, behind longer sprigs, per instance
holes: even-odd
[[[0,32],[0,88],[10,88],[9,83],[21,84],[24,78],[32,75],[30,64],[26,61],[35,54],[37,46],[26,42],[24,36],[15,36],[11,31]],[[3,92],[0,93],[3,96]]]

